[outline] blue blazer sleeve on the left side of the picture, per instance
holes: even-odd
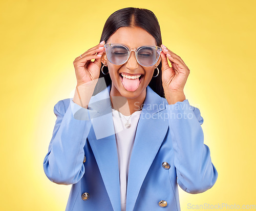
[[[57,119],[43,164],[47,177],[58,184],[73,184],[83,176],[83,147],[92,125],[92,111],[74,103],[73,98],[67,100],[67,110],[63,100],[54,106]]]

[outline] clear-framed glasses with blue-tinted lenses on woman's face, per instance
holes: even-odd
[[[127,62],[131,56],[131,52],[135,52],[137,62],[142,66],[152,66],[159,59],[161,47],[153,45],[140,46],[130,49],[120,43],[106,43],[104,45],[106,57],[115,65],[121,65]]]

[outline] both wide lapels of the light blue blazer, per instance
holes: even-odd
[[[120,181],[115,129],[110,100],[111,85],[91,97],[88,109],[92,127],[88,136],[114,211],[120,211]],[[168,121],[163,118],[166,100],[149,86],[137,126],[127,181],[126,210],[133,210],[144,178],[163,142]]]

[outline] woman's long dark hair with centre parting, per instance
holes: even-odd
[[[121,27],[140,27],[155,38],[157,46],[162,44],[160,25],[157,17],[150,10],[133,7],[117,10],[106,20],[100,37],[100,42],[104,40],[106,43],[110,36]],[[103,64],[101,64],[101,67],[102,66]],[[160,62],[158,65],[159,75],[157,77],[152,77],[152,80],[148,86],[150,86],[152,90],[155,91],[159,96],[164,97],[161,67],[162,62]],[[106,86],[109,86],[112,83],[109,74],[104,75],[100,71],[99,77],[104,77]],[[99,93],[103,87],[97,85],[95,91],[96,93]]]

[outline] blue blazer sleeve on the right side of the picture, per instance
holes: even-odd
[[[187,99],[166,105],[174,148],[177,182],[187,193],[202,193],[216,182],[218,173],[204,144],[203,118]]]

